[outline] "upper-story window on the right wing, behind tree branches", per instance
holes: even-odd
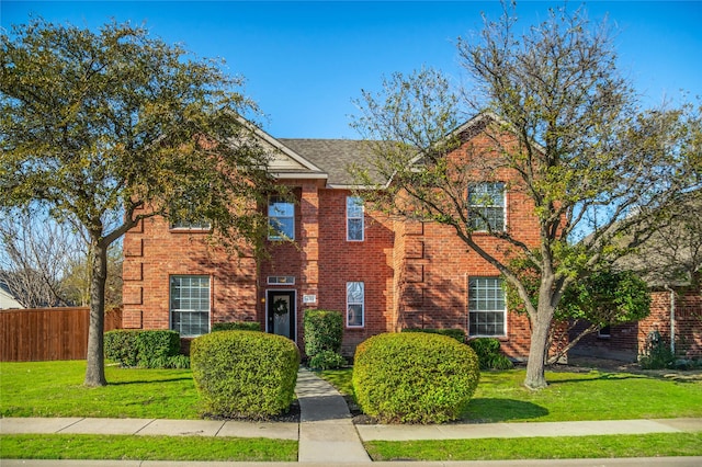
[[[473,230],[505,230],[505,183],[468,186],[468,218]]]

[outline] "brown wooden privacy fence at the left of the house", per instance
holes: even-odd
[[[89,308],[0,310],[0,362],[84,360]],[[122,327],[122,311],[105,315],[105,331]]]

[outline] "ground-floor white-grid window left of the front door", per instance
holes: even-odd
[[[182,337],[210,332],[210,276],[171,276],[171,329]]]

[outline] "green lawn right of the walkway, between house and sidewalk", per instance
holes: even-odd
[[[483,372],[462,419],[468,423],[561,422],[702,417],[702,379],[654,375],[546,372],[548,387],[522,386],[524,369]],[[351,369],[321,372],[352,395]]]

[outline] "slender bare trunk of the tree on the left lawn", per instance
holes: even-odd
[[[88,365],[86,386],[105,386],[104,322],[105,283],[107,280],[107,248],[102,241],[91,242],[90,324],[88,328]]]

